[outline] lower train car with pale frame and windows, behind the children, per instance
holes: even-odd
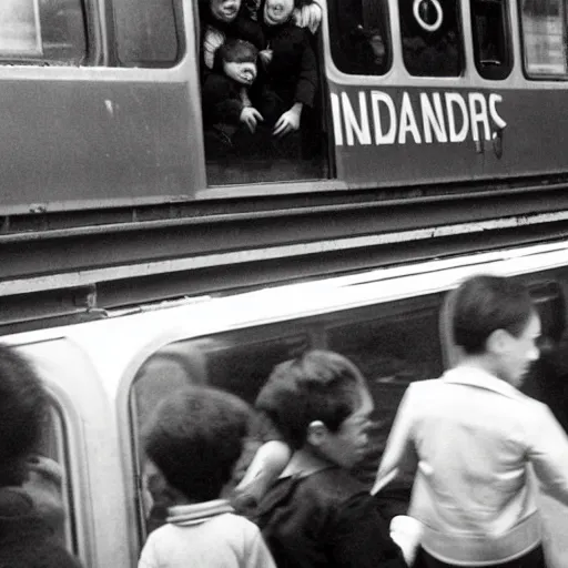
[[[356,474],[371,486],[405,388],[438,376],[455,356],[445,331],[446,293],[479,273],[514,276],[529,287],[542,347],[526,389],[549,403],[567,427],[564,241],[141,305],[95,322],[4,336],[49,387],[52,420],[43,452],[64,473],[67,545],[89,568],[134,567],[149,515],[140,450],[148,410],[191,383],[252,402],[272,367],[306,347],[346,355],[368,381],[376,405],[373,452]],[[546,497],[542,507],[550,566],[562,568],[568,509]]]

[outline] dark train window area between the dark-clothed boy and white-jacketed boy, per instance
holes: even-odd
[[[368,459],[356,471],[366,484],[373,483],[386,438],[406,387],[414,381],[442,374],[438,336],[440,298],[425,297],[381,306],[382,313],[368,317],[368,310],[354,314],[359,320],[327,328],[327,346],[351,358],[365,375],[375,400],[376,426]],[[388,312],[385,313],[385,311]],[[406,479],[402,490],[409,490]]]

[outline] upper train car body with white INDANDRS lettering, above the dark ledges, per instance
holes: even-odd
[[[3,1],[0,213],[568,174],[564,0],[316,0],[314,101],[300,145],[270,156],[204,143],[223,1],[245,3]]]

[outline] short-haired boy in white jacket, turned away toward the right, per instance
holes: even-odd
[[[462,358],[406,390],[374,493],[416,473],[416,568],[545,568],[529,469],[568,505],[568,439],[547,406],[518,390],[539,355],[538,312],[523,284],[493,275],[467,278],[446,308]]]

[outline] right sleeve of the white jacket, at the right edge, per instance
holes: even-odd
[[[540,489],[568,505],[568,437],[548,406],[536,404],[536,419],[527,416],[528,458]]]

